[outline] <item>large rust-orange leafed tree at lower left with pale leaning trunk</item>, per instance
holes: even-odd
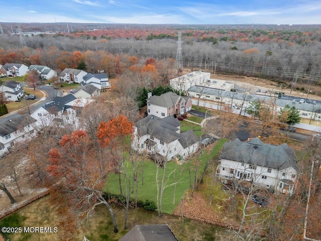
[[[57,210],[64,216],[61,225],[71,233],[76,218],[86,218],[97,205],[103,204],[111,214],[114,232],[118,232],[112,208],[101,191],[111,170],[106,155],[102,153],[99,158],[94,154],[96,147],[85,131],[65,135],[59,144],[59,148],[49,151],[50,165],[47,171],[53,177],[49,186],[51,200],[59,206]]]

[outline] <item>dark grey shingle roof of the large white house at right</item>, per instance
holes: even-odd
[[[239,139],[225,143],[220,158],[277,170],[292,167],[298,171],[295,153],[286,143],[265,144],[257,137],[248,143]]]

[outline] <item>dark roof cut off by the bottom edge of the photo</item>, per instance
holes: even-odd
[[[178,241],[167,224],[136,225],[119,241]]]

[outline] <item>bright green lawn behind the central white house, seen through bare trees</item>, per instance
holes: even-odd
[[[202,174],[202,171],[207,163],[207,161],[212,160],[218,153],[220,152],[223,144],[226,142],[226,139],[221,139],[217,142],[217,144],[210,151],[201,151],[197,157],[198,160],[202,161],[202,165],[199,171],[199,175]],[[189,165],[191,161],[188,161],[185,164],[178,165],[175,161],[170,161],[166,166],[166,178],[167,184],[170,185],[174,183],[173,174],[175,173],[175,177],[177,178],[180,174],[182,168],[183,172],[181,175],[181,182],[177,184],[176,188],[176,197],[175,204],[173,205],[173,194],[174,194],[174,186],[169,186],[165,189],[163,195],[163,212],[172,214],[175,207],[179,203],[180,199],[184,196],[184,193],[190,188],[190,178],[189,178]],[[128,162],[124,163],[125,169],[127,173],[131,173],[131,164]],[[163,175],[164,169],[159,168],[159,177]],[[146,199],[152,200],[156,203],[157,197],[157,187],[156,187],[156,166],[152,161],[145,161],[143,163],[143,185],[141,181],[141,174],[139,176],[139,185],[138,185],[138,199],[145,201]],[[123,175],[122,175],[122,184],[124,184]],[[110,174],[106,180],[106,189],[110,193],[120,194],[119,183],[118,183],[118,174]],[[134,197],[134,193],[132,197]]]

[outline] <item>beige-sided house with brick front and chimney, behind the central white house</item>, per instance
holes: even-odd
[[[174,114],[184,114],[192,108],[192,100],[189,97],[179,96],[173,92],[162,95],[148,93],[147,114],[165,118]]]

